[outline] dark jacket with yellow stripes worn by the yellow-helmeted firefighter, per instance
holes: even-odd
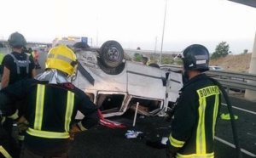
[[[3,99],[3,96],[8,99]],[[3,88],[0,99],[6,100],[6,103],[10,100],[25,101],[23,114],[29,126],[24,145],[38,155],[67,152],[69,132],[78,110],[84,114],[84,119],[77,123],[81,131],[99,121],[96,105],[72,83],[49,84],[26,79]],[[0,109],[8,115],[9,108],[3,105]]]

